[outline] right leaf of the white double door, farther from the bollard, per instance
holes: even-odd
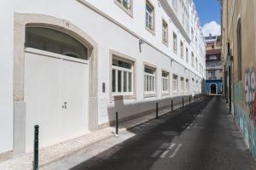
[[[61,139],[79,137],[87,131],[88,65],[61,60]],[[66,105],[64,104],[66,103]],[[64,130],[65,129],[65,130]]]

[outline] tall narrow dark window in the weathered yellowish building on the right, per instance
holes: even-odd
[[[236,27],[236,41],[237,41],[237,66],[238,66],[238,80],[241,80],[242,65],[241,65],[241,19],[238,20]]]

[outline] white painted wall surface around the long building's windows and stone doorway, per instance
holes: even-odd
[[[152,48],[147,43],[142,45],[142,53],[139,52],[138,38],[132,36],[123,28],[113,24],[110,20],[96,14],[90,8],[87,8],[82,3],[74,0],[13,0],[1,1],[0,3],[0,18],[3,25],[0,27],[2,38],[0,39],[2,54],[0,76],[3,82],[0,82],[0,153],[7,150],[12,150],[13,138],[13,47],[14,47],[14,13],[26,14],[45,14],[63,20],[69,20],[73,25],[78,26],[86,34],[90,35],[98,44],[98,123],[102,124],[113,119],[113,106],[117,110],[125,111],[122,116],[130,116],[140,111],[145,111],[145,108],[150,109],[154,107],[148,101],[155,99],[170,99],[172,97],[172,73],[184,79],[189,78],[189,94],[195,93],[192,90],[192,77],[199,79],[204,77],[200,75],[199,71],[195,71],[190,64],[191,50],[195,51],[195,56],[198,56],[199,62],[205,68],[204,54],[197,52],[195,47],[188,42],[184,44],[189,48],[189,63],[180,58],[179,42],[184,40],[184,37],[174,26],[172,20],[165,11],[159,7],[156,0],[150,2],[154,5],[155,9],[155,36],[145,30],[145,1],[133,1],[133,17],[126,14],[119,6],[113,3],[113,0],[86,0],[94,7],[100,9],[103,13],[108,14],[111,18],[118,21],[121,25],[127,27],[129,30],[136,32],[137,35],[152,43],[155,48]],[[13,2],[13,3],[12,3]],[[169,25],[169,47],[166,47],[162,40],[161,21],[165,19]],[[172,51],[172,31],[177,33],[177,54]],[[198,38],[200,40],[200,38]],[[119,53],[128,55],[137,60],[137,99],[127,99],[118,102],[109,103],[109,50],[118,51]],[[162,51],[165,54],[160,53]],[[171,59],[176,59],[177,62],[172,62]],[[157,97],[144,99],[143,97],[143,62],[152,63],[157,66]],[[179,63],[179,64],[177,64]],[[181,65],[180,65],[181,64]],[[188,70],[184,70],[184,67]],[[170,71],[170,95],[162,97],[161,95],[161,69]],[[191,70],[191,71],[190,71]],[[185,71],[185,72],[184,72]],[[197,75],[197,76],[195,76]],[[106,83],[106,93],[102,93],[102,82]],[[179,83],[178,83],[179,84]],[[181,94],[178,94],[181,95]],[[132,109],[126,109],[126,106],[133,105]]]

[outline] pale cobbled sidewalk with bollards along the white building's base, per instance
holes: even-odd
[[[186,102],[184,103],[184,105],[189,105],[189,103]],[[181,107],[182,107],[182,104],[173,105],[173,110],[176,110]],[[159,116],[164,115],[170,111],[172,111],[171,106],[167,107],[164,110],[160,110]],[[155,118],[155,112],[152,112],[148,115],[140,116],[140,117],[131,119],[129,121],[122,122],[119,124],[119,133],[125,132],[131,127],[136,127],[138,124],[141,124],[143,122],[148,122],[154,118]],[[54,146],[51,146],[49,148],[39,150],[39,167],[42,167],[50,162],[57,161],[62,157],[69,156],[75,151],[78,151],[85,147],[90,146],[90,144],[95,144],[96,142],[99,142],[103,139],[108,139],[113,136],[114,132],[115,132],[115,127],[107,127],[101,130],[97,130],[95,132],[90,132],[77,139],[72,139],[67,142],[64,142],[61,144],[55,144]],[[0,162],[0,170],[32,169],[32,160],[33,160],[32,153],[28,153],[23,156],[14,157],[9,160]]]

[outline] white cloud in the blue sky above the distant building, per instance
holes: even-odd
[[[209,34],[212,34],[212,36],[219,36],[221,34],[220,31],[221,27],[218,25],[216,21],[211,21],[205,24],[205,26],[202,27],[202,31],[205,37],[209,36]]]

